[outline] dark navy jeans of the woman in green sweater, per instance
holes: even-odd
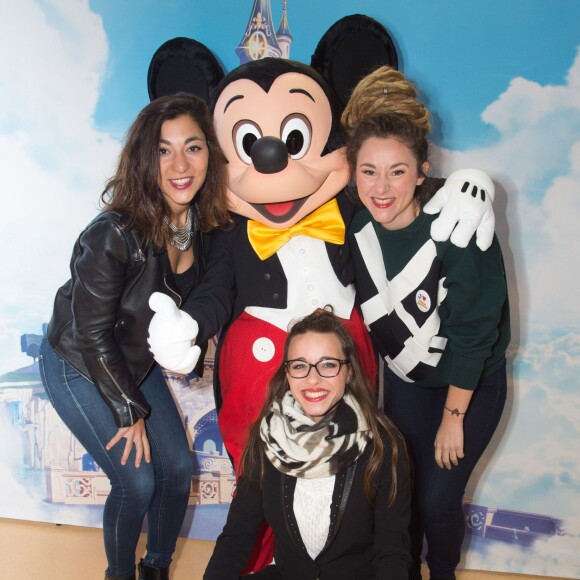
[[[423,536],[432,577],[450,578],[461,557],[465,534],[462,499],[469,477],[487,447],[502,414],[506,394],[505,361],[482,378],[464,417],[464,454],[458,467],[435,463],[434,442],[447,387],[406,383],[385,368],[385,412],[405,436],[413,462],[415,487],[411,515],[412,575],[421,566]]]

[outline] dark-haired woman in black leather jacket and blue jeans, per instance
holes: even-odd
[[[191,484],[180,415],[147,344],[153,292],[179,305],[211,236],[229,221],[211,115],[185,93],[152,101],[129,128],[103,211],[79,236],[57,292],[40,369],[56,412],[109,477],[105,578],[169,578]],[[203,363],[203,357],[201,362]]]

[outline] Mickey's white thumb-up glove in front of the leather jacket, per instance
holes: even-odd
[[[197,322],[161,292],[151,294],[149,307],[155,314],[147,340],[155,360],[169,371],[190,373],[201,354],[199,346],[194,346],[199,331]]]

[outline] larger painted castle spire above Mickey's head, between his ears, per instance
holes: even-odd
[[[246,32],[236,48],[240,64],[267,56],[280,58],[282,49],[274,34],[270,0],[254,0]]]

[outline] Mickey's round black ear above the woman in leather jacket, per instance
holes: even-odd
[[[185,91],[207,103],[211,90],[223,77],[222,67],[205,45],[191,38],[174,38],[162,44],[151,59],[149,98]]]

